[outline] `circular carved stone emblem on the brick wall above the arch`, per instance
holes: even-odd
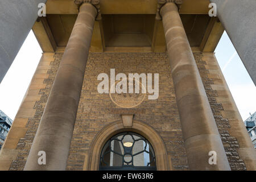
[[[132,108],[140,105],[146,98],[146,93],[142,93],[142,90],[143,89],[146,90],[146,89],[144,88],[144,85],[142,85],[142,83],[137,80],[134,81],[133,93],[129,93],[129,86],[127,81],[126,81],[127,93],[117,93],[117,92],[112,93],[112,91],[115,89],[115,86],[118,84],[118,82],[120,81],[116,81],[115,84],[113,84],[110,87],[110,93],[109,93],[110,99],[114,102],[115,105],[119,107],[124,107],[124,108]],[[136,85],[135,82],[139,84],[139,91],[140,91],[139,93],[134,92],[134,88]]]

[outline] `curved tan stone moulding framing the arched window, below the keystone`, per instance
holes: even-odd
[[[104,144],[114,135],[125,131],[138,133],[150,142],[155,151],[156,169],[158,171],[168,171],[171,169],[171,164],[168,164],[166,146],[160,135],[151,126],[140,121],[133,121],[133,126],[124,127],[122,120],[118,120],[105,126],[98,132],[96,137],[94,137],[90,146],[88,160],[87,162],[85,161],[87,165],[84,165],[84,170],[97,171],[100,164],[101,150]]]

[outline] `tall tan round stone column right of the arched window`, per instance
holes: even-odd
[[[163,19],[189,168],[230,170],[204,85],[174,2],[175,0],[160,1],[160,5],[163,5],[160,7],[160,15]],[[216,164],[209,164],[210,151],[217,154]]]

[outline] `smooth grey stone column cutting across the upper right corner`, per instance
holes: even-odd
[[[210,0],[217,16],[256,85],[256,1]]]

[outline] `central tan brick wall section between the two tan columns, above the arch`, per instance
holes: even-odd
[[[109,94],[98,94],[97,76],[115,68],[117,73],[159,73],[158,100],[146,99],[133,109],[115,105]],[[172,169],[188,169],[184,141],[177,111],[174,85],[166,53],[90,53],[86,65],[79,110],[69,150],[68,170],[82,170],[95,135],[113,121],[121,119],[120,111],[133,110],[134,120],[153,127],[163,138]]]

